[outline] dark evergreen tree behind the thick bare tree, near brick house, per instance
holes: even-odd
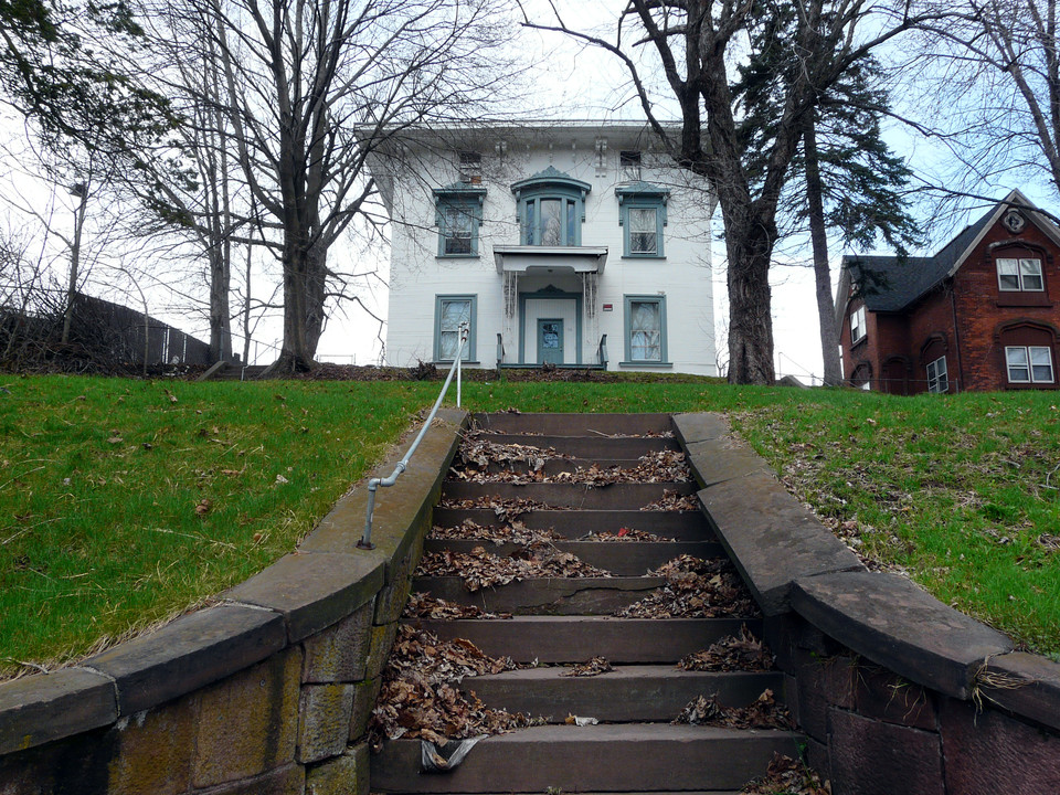
[[[741,68],[736,96],[743,110],[739,127],[752,180],[764,172],[761,152],[780,124],[783,97],[803,68],[795,39],[795,9],[781,3],[753,30],[755,52]],[[808,229],[814,253],[817,314],[824,380],[842,382],[839,335],[831,295],[828,233],[845,247],[871,248],[879,237],[905,256],[920,239],[904,189],[912,172],[884,142],[881,118],[889,112],[879,62],[866,55],[838,80],[814,95],[803,119],[801,146],[793,157],[781,201],[789,221]]]

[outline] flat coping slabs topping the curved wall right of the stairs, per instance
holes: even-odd
[[[794,612],[916,685],[1060,731],[1060,664],[1013,651],[905,577],[866,571],[723,417],[676,414],[674,425],[709,522],[766,615]]]

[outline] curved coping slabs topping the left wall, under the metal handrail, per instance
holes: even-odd
[[[392,582],[437,501],[467,413],[442,410],[394,488],[377,494],[373,550],[367,478],[299,548],[221,594],[221,604],[68,668],[0,683],[0,754],[107,727],[223,679],[344,618]],[[405,446],[375,467],[386,477]]]

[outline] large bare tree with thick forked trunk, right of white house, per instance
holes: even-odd
[[[717,192],[729,258],[731,383],[774,380],[768,272],[781,191],[806,115],[851,64],[934,14],[913,15],[907,6],[870,0],[797,3],[787,44],[801,68],[782,88],[763,168],[752,174],[745,167],[745,138],[738,129],[730,75],[738,57],[754,56],[748,53],[753,49],[754,28],[768,24],[777,10],[771,2],[751,0],[628,0],[613,39],[570,28],[554,4],[553,22],[527,20],[533,28],[561,31],[621,59],[643,112],[670,156],[706,177]],[[651,75],[642,66],[644,49],[654,53],[670,96],[653,92]],[[659,117],[667,99],[676,99],[679,107],[681,125],[676,135]]]

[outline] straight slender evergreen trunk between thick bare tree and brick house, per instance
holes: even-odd
[[[828,235],[825,230],[820,163],[817,159],[817,130],[812,114],[807,114],[803,149],[806,156],[806,201],[809,205],[809,240],[814,246],[817,321],[820,325],[820,354],[825,361],[825,385],[838,386],[842,383],[842,364],[839,361],[836,305],[831,298],[831,268],[828,266]]]

